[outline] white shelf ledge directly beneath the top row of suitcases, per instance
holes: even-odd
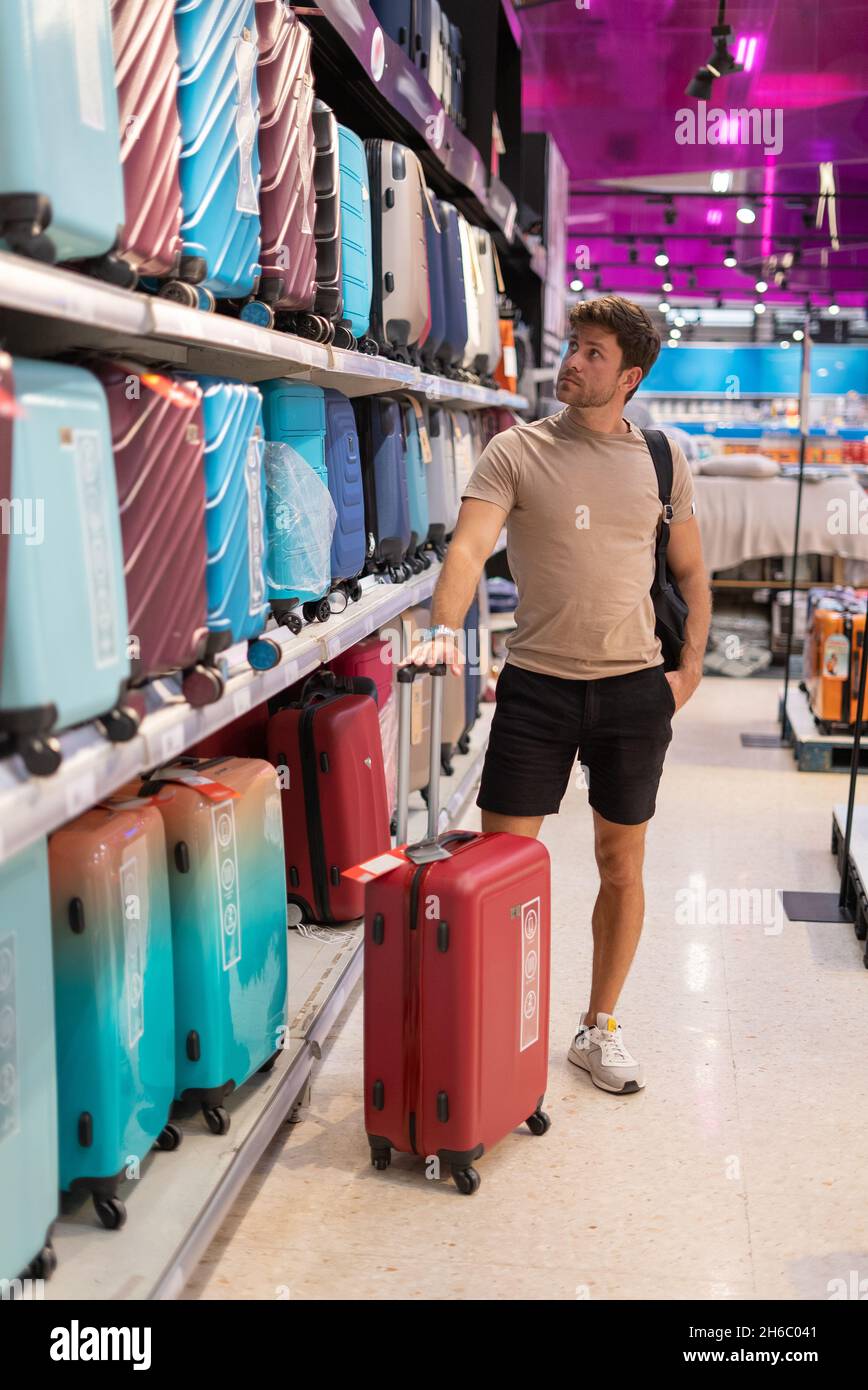
[[[238,381],[298,377],[348,396],[401,389],[469,409],[527,409],[524,396],[327,348],[1,252],[0,306],[3,345],[25,356],[102,352]]]

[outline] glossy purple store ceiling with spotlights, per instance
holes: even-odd
[[[677,113],[698,111],[684,88],[711,57],[716,11],[716,0],[587,0],[587,8],[529,0],[519,8],[524,126],[551,131],[570,171],[569,267],[587,247],[588,268],[577,274],[588,289],[655,292],[669,279],[676,296],[754,299],[762,271],[769,300],[864,304],[865,0],[730,0],[732,49],[744,39],[753,65],[714,83],[707,115],[757,111],[765,129],[753,131],[760,143],[743,142],[736,121],[723,145],[679,143],[686,118]],[[819,165],[829,163],[837,250],[829,202],[815,225]],[[728,196],[712,193],[714,171],[732,175]],[[750,227],[736,218],[747,195],[757,213]],[[662,245],[664,270],[654,264]],[[722,264],[730,245],[736,270]],[[789,254],[793,264],[783,265]]]

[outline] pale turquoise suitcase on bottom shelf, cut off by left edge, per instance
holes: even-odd
[[[57,1080],[45,840],[0,865],[0,1279],[56,1265]]]

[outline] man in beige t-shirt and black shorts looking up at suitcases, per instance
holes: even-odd
[[[711,620],[691,474],[675,445],[668,563],[690,616],[680,666],[665,673],[651,600],[657,474],[641,432],[623,418],[659,346],[630,300],[606,295],[573,307],[558,375],[565,409],[504,431],[480,456],[433,626],[409,657],[459,669],[456,631],[506,523],[519,606],[477,806],[484,831],[538,835],[576,759],[587,769],[600,892],[591,995],[569,1059],[619,1095],[645,1084],[613,1013],[643,927],[645,831],[672,716],[700,684]]]

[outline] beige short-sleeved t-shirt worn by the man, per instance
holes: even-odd
[[[693,477],[675,442],[672,461],[672,520],[687,521]],[[651,582],[662,507],[638,430],[601,434],[569,407],[513,425],[487,445],[462,498],[509,513],[511,664],[572,680],[659,666]]]

